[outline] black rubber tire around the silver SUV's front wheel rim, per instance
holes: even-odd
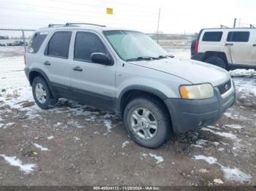
[[[151,139],[142,139],[138,136],[131,125],[131,115],[135,109],[145,108],[148,109],[157,121],[157,132]],[[127,133],[135,143],[140,146],[155,149],[165,144],[168,137],[170,137],[171,126],[170,117],[163,104],[151,97],[148,98],[135,98],[130,101],[124,109],[124,125]]]

